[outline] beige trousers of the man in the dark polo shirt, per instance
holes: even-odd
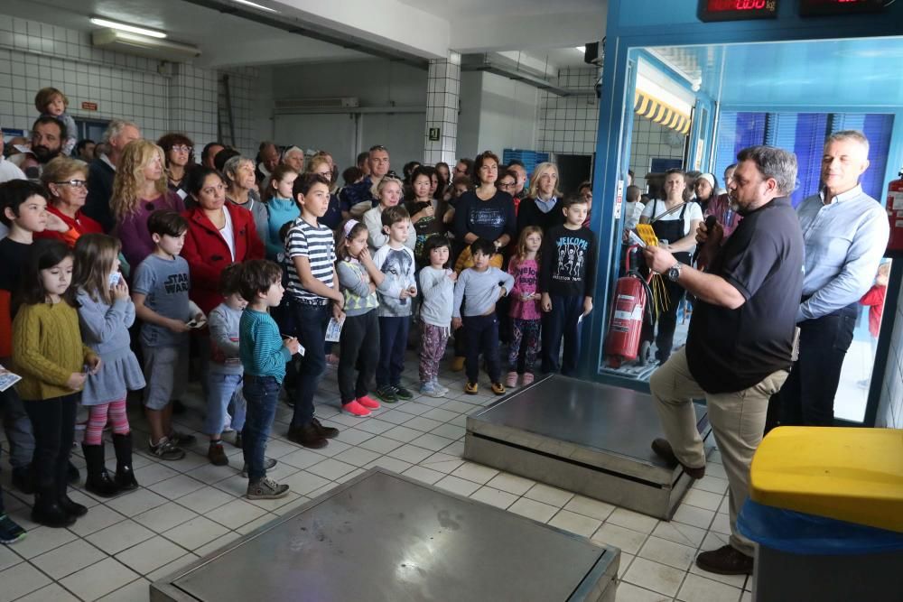
[[[691,468],[705,466],[703,439],[696,430],[693,400],[705,398],[715,443],[729,483],[731,546],[753,555],[754,543],[737,532],[737,514],[749,497],[749,465],[762,440],[768,398],[787,380],[787,370],[766,376],[759,384],[735,393],[708,394],[696,383],[679,349],[649,379],[665,437],[675,456]]]

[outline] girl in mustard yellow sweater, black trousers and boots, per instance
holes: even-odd
[[[65,243],[34,243],[13,320],[13,362],[22,376],[16,390],[34,431],[32,520],[49,527],[69,526],[88,512],[66,494],[66,475],[79,391],[86,373],[98,373],[100,357],[81,342],[72,266]]]

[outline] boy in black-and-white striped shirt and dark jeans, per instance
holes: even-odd
[[[323,372],[323,344],[330,318],[345,317],[345,297],[335,273],[336,253],[332,230],[318,221],[330,206],[330,183],[317,173],[300,176],[292,189],[301,217],[285,238],[288,292],[295,312],[298,339],[306,350],[298,370],[294,415],[288,439],[305,448],[320,449],[336,437],[338,429],[323,426],[313,415],[313,394]]]

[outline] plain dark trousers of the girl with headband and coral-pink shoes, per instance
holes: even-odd
[[[377,371],[379,320],[377,310],[348,316],[341,328],[339,393],[341,403],[351,403],[367,394]],[[358,378],[355,380],[355,373]]]

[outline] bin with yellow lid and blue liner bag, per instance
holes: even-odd
[[[903,601],[903,431],[775,429],[749,489],[757,602]]]

